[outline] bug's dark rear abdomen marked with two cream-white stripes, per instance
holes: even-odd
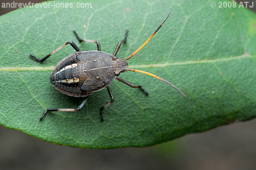
[[[66,95],[75,97],[90,95],[90,93],[84,93],[80,90],[86,77],[81,73],[83,63],[76,59],[76,55],[79,53],[76,52],[61,60],[50,75],[52,86]]]

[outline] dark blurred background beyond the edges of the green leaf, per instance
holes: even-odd
[[[43,0],[15,0],[39,3]],[[11,3],[12,1],[0,1]],[[240,1],[239,1],[240,2]],[[250,8],[256,12],[256,1]],[[87,1],[87,3],[90,3]],[[15,8],[0,9],[0,15]],[[59,146],[0,126],[1,170],[255,170],[256,120],[235,122],[152,147],[90,150]]]

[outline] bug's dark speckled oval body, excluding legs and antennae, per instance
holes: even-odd
[[[76,52],[57,64],[50,75],[50,82],[60,92],[70,96],[90,95],[116,78],[113,72],[116,63],[112,63],[112,58],[106,52]],[[126,63],[125,68],[127,66]]]

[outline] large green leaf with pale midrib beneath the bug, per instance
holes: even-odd
[[[0,124],[56,144],[86,148],[144,147],[188,133],[201,132],[256,117],[256,14],[238,8],[210,7],[210,2],[95,0],[92,8],[55,8],[84,1],[47,1],[44,7],[18,9],[0,17]],[[227,1],[231,3],[231,1]],[[49,5],[49,7],[47,7]],[[53,6],[51,6],[53,5]],[[55,5],[55,6],[54,6]],[[65,5],[65,4],[64,4]],[[83,98],[69,97],[49,82],[55,65],[74,53],[66,46],[43,63],[67,40],[79,48],[113,54],[129,29],[127,42],[117,54],[125,58],[140,47],[163,19],[163,27],[133,58],[129,68],[151,72],[171,86],[137,72],[120,77],[141,84],[149,92],[132,89],[119,81],[91,95],[80,112],[50,112],[47,108],[77,108]]]

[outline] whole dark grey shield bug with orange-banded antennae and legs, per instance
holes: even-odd
[[[151,75],[161,81],[166,82],[167,84],[174,87],[178,92],[180,92],[181,95],[185,97],[183,92],[180,91],[176,86],[172,85],[168,81],[164,80],[163,78],[160,78],[156,75],[153,75],[149,72],[144,72],[137,69],[127,69],[128,63],[126,60],[129,60],[132,58],[140,49],[145,46],[146,43],[155,35],[155,33],[160,29],[160,27],[163,25],[163,23],[167,20],[169,15],[171,14],[171,11],[167,15],[167,17],[163,20],[163,22],[160,24],[160,26],[154,31],[154,33],[148,38],[148,40],[143,43],[140,48],[138,48],[134,53],[129,55],[127,58],[124,59],[118,59],[116,57],[116,54],[121,46],[122,43],[125,43],[128,30],[125,32],[125,37],[122,41],[120,41],[115,51],[113,52],[113,55],[108,54],[106,52],[101,51],[101,46],[99,41],[96,40],[84,40],[79,37],[76,31],[74,31],[77,39],[79,42],[90,42],[90,43],[96,43],[98,51],[81,51],[78,46],[73,41],[67,41],[63,45],[59,46],[57,49],[55,49],[53,52],[51,52],[49,55],[46,55],[44,58],[38,59],[34,55],[30,55],[31,57],[35,58],[36,61],[42,62],[45,59],[47,59],[49,56],[57,52],[58,50],[62,49],[67,44],[70,44],[77,52],[73,53],[66,58],[62,59],[53,69],[51,75],[50,75],[50,82],[52,85],[58,89],[60,92],[74,96],[74,97],[85,97],[84,101],[80,104],[80,106],[77,109],[52,109],[48,108],[45,110],[43,115],[41,116],[40,120],[44,118],[44,116],[47,114],[47,112],[52,111],[79,111],[81,110],[84,105],[86,104],[88,98],[91,94],[93,94],[96,91],[99,91],[106,87],[108,90],[108,94],[110,96],[111,101],[108,102],[105,106],[100,108],[100,115],[101,115],[101,121],[103,121],[103,113],[102,110],[108,107],[110,104],[113,103],[114,97],[113,94],[109,88],[109,84],[113,82],[114,79],[121,81],[124,84],[127,84],[128,86],[131,86],[132,88],[140,88],[142,89],[146,95],[148,95],[148,92],[145,91],[145,89],[141,86],[135,86],[134,84],[131,84],[130,82],[119,78],[118,76],[122,72],[126,71],[132,71],[132,72],[140,72],[147,75]]]

